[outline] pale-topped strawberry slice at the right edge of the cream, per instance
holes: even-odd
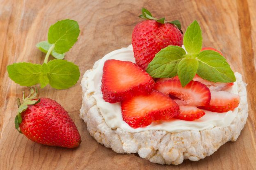
[[[223,113],[235,109],[240,102],[239,95],[227,91],[212,91],[211,95],[210,104],[199,107],[200,109]]]

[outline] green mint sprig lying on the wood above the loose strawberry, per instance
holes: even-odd
[[[74,20],[61,20],[50,26],[48,41],[41,41],[36,46],[46,53],[44,63],[14,63],[7,66],[9,77],[21,86],[40,84],[41,88],[50,84],[56,89],[70,88],[78,81],[78,66],[62,60],[66,52],[74,45],[79,35],[78,23]],[[49,61],[50,54],[56,59]]]

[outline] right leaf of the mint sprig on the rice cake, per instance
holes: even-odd
[[[218,52],[205,50],[199,53],[197,74],[211,82],[235,82],[235,75],[229,63]]]

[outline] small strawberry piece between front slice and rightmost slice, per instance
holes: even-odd
[[[181,113],[175,116],[177,119],[193,121],[205,115],[205,112],[194,106],[180,106]]]

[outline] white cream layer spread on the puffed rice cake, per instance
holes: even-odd
[[[181,132],[187,130],[203,130],[213,128],[215,126],[227,127],[231,124],[232,120],[238,113],[238,108],[226,113],[214,113],[211,111],[205,111],[205,116],[199,120],[185,121],[173,119],[171,121],[162,121],[161,123],[153,122],[151,125],[144,128],[133,129],[126,122],[123,121],[121,114],[120,103],[111,104],[103,100],[101,93],[101,78],[103,74],[104,62],[108,59],[117,59],[122,61],[132,61],[135,63],[133,57],[133,47],[129,45],[127,48],[121,48],[114,50],[109,54],[106,54],[102,59],[97,61],[93,70],[88,75],[88,90],[87,94],[93,94],[92,96],[96,100],[96,105],[100,109],[103,118],[107,125],[112,128],[121,128],[128,132],[140,132],[148,130],[165,130],[169,132]],[[230,93],[238,94],[238,86],[235,82],[234,85],[228,90]]]

